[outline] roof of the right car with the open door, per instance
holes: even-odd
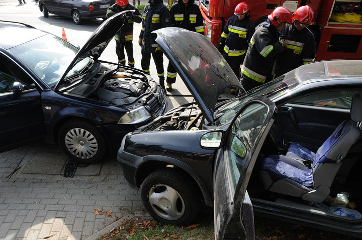
[[[362,59],[328,60],[302,65],[295,75],[302,84],[362,77]]]

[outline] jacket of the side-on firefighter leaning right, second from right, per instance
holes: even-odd
[[[280,32],[266,19],[263,26],[258,28],[251,37],[241,72],[248,78],[259,83],[273,79],[272,69],[283,44],[279,42]]]

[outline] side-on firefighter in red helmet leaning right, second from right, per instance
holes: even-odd
[[[292,23],[291,11],[278,7],[251,37],[251,44],[241,67],[241,84],[246,91],[273,79],[276,58],[287,47],[284,40],[279,40],[280,32],[287,23]]]

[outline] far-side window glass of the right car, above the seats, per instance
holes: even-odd
[[[308,96],[303,96],[292,103],[308,106],[322,106],[341,109],[350,109],[352,95],[361,94],[362,91],[330,91],[318,92]]]

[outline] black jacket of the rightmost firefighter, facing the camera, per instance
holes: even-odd
[[[298,30],[293,24],[288,24],[281,32],[281,39],[286,41],[287,49],[278,57],[278,75],[314,60],[315,39],[308,28]]]

